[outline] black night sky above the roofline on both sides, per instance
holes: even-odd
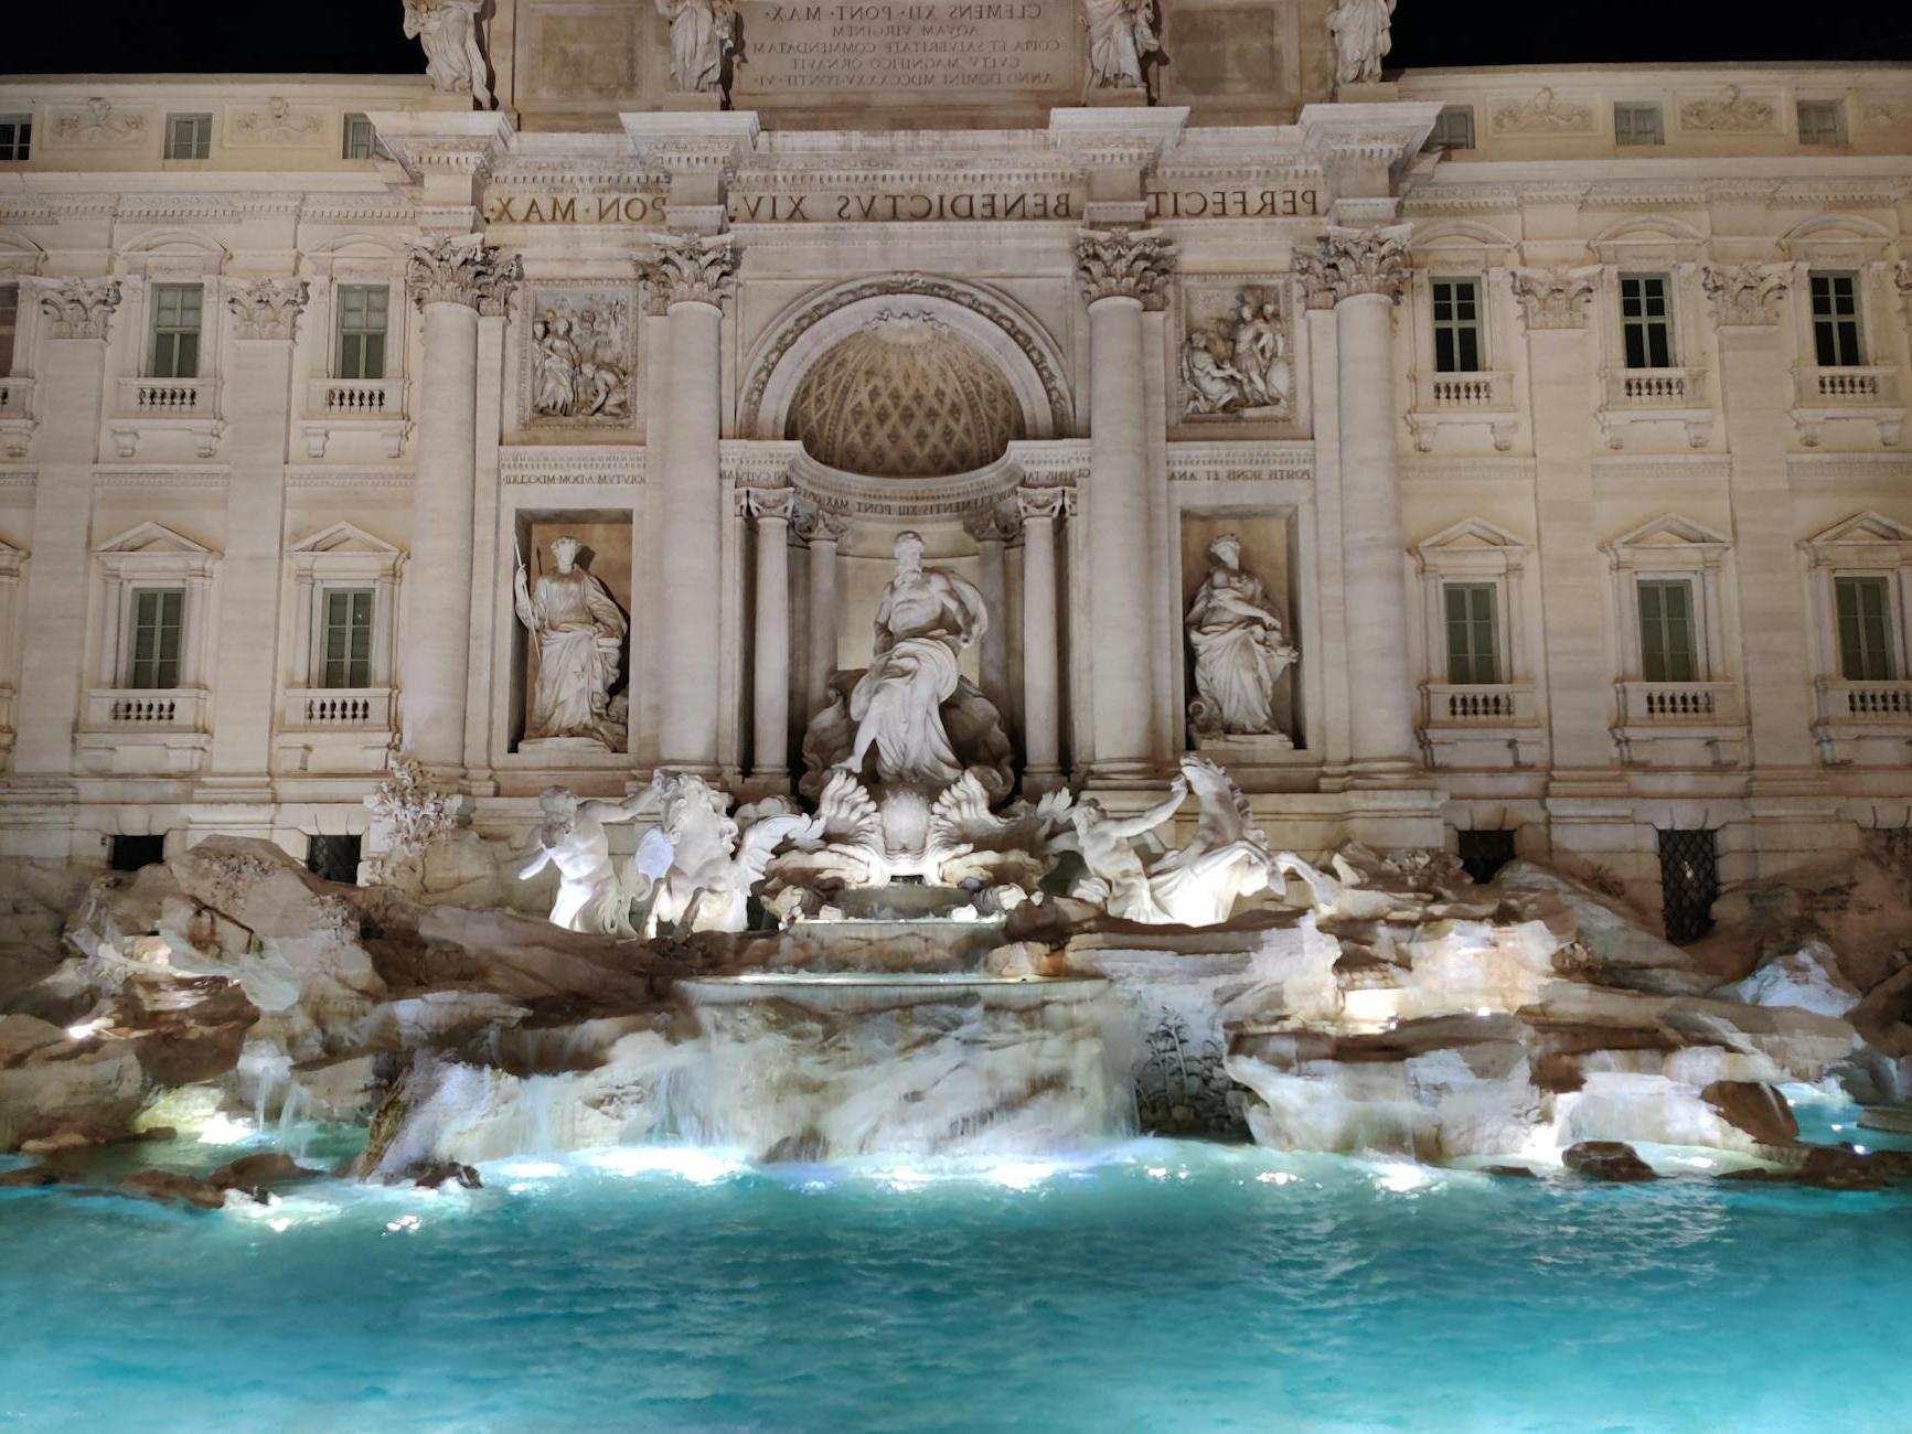
[[[1162,0],[1174,4],[1174,0]],[[423,73],[400,0],[10,0],[0,73]],[[1912,4],[1401,0],[1388,67],[1912,59]]]

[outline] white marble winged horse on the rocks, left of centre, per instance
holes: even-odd
[[[786,841],[809,843],[820,816],[805,816],[788,799],[771,797],[730,815],[730,797],[702,776],[658,771],[650,797],[660,822],[639,845],[637,870],[650,880],[644,935],[662,922],[684,931],[742,931],[750,893],[771,855]]]

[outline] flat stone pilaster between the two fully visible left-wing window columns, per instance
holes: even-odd
[[[220,650],[212,663],[212,750],[197,795],[245,801],[222,828],[270,826],[272,732],[277,715],[279,591],[285,547],[285,436],[293,405],[293,340],[306,285],[260,279],[237,285],[226,306],[233,346],[226,375],[228,453],[226,558],[220,564]],[[310,618],[310,610],[308,610]],[[260,639],[266,637],[266,650]],[[293,633],[294,669],[312,646],[312,625]]]

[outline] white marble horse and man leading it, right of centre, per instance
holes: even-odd
[[[1189,795],[1195,797],[1195,836],[1145,866],[1134,843],[1168,822]],[[1264,891],[1283,866],[1228,772],[1193,753],[1182,757],[1182,774],[1155,807],[1136,816],[1111,816],[1090,799],[1069,809],[1069,828],[1052,847],[1075,847],[1082,855],[1086,874],[1071,895],[1124,922],[1220,925],[1237,901]]]

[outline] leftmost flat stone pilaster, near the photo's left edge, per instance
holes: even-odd
[[[38,486],[13,744],[17,788],[61,788],[73,774],[73,725],[86,684],[88,526],[107,382],[105,338],[119,302],[120,287],[111,279],[40,287],[38,325],[46,342],[38,346],[34,377],[46,417],[33,444]]]

